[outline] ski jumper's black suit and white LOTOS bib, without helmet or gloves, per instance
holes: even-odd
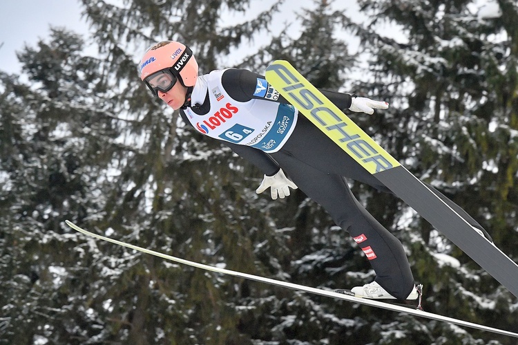
[[[351,106],[351,95],[320,90],[338,108]],[[309,198],[349,232],[365,253],[376,282],[397,299],[414,288],[401,242],[356,200],[344,178],[387,193],[390,189],[327,138],[272,88],[265,77],[229,68],[198,77],[185,122],[204,135],[222,140],[267,176],[280,168]],[[472,217],[436,189],[428,187],[475,227]]]

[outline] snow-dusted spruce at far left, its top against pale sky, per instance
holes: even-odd
[[[133,150],[114,140],[124,127],[110,101],[117,86],[82,48],[77,35],[54,29],[19,53],[28,82],[0,75],[1,344],[95,339],[106,319],[92,307],[137,262],[121,250],[111,260],[62,223],[102,218],[108,168]]]

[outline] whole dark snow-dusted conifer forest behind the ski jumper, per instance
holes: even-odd
[[[18,52],[21,73],[0,71],[0,344],[515,344],[177,265],[64,220],[312,287],[374,278],[319,205],[258,196],[261,171],[151,97],[140,55],[175,39],[202,73],[287,59],[319,88],[390,102],[351,116],[517,261],[516,1],[494,16],[468,0],[358,0],[354,15],[326,0],[79,2],[89,37],[52,28]],[[397,198],[349,183],[405,245],[425,310],[518,331],[516,297]]]

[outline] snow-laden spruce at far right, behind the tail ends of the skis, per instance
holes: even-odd
[[[491,1],[483,8],[473,1],[359,3],[369,19],[354,29],[369,53],[372,79],[358,80],[358,88],[392,103],[388,115],[369,123],[372,133],[416,176],[464,207],[516,259],[517,6],[513,1]],[[401,215],[405,212],[401,205]],[[394,228],[412,230],[402,234],[403,242],[409,243],[416,280],[425,292],[428,286],[430,310],[513,327],[515,297],[425,221],[398,219]],[[443,265],[435,254],[449,254],[459,265]],[[502,315],[498,323],[495,313]]]

